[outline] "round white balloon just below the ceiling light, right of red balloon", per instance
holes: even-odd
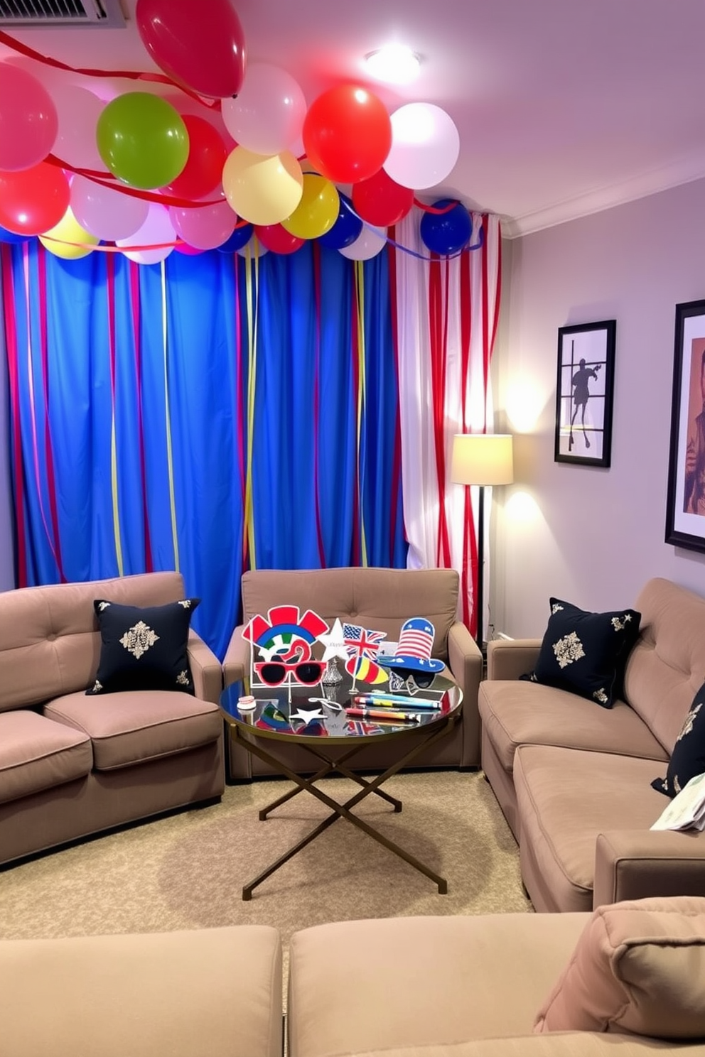
[[[391,115],[392,145],[383,168],[402,187],[440,184],[460,153],[452,118],[432,103],[408,103]]]

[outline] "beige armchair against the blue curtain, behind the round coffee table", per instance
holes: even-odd
[[[336,617],[384,631],[397,641],[404,620],[425,616],[435,629],[432,655],[463,691],[463,716],[454,731],[414,760],[414,766],[477,767],[480,764],[478,687],[482,654],[457,616],[459,576],[452,569],[315,569],[302,571],[251,570],[242,576],[242,624],[230,638],[223,660],[224,685],[242,681],[249,672],[249,644],[242,629],[253,616],[266,616],[278,605],[311,609],[331,626]],[[414,735],[410,735],[411,738]],[[278,746],[279,748],[279,746]],[[297,746],[286,746],[286,761],[297,772],[312,771],[312,757]],[[394,753],[394,757],[390,756]],[[270,774],[266,764],[240,746],[228,745],[228,774],[247,779]],[[398,740],[365,749],[355,758],[356,768],[388,767],[402,755]],[[313,769],[317,768],[317,764]]]

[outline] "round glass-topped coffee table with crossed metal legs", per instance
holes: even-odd
[[[329,686],[291,687],[258,686],[249,688],[243,683],[233,683],[221,693],[220,707],[229,727],[230,738],[248,753],[264,760],[280,774],[294,782],[294,789],[278,797],[259,813],[260,820],[292,797],[307,792],[331,809],[319,824],[301,838],[293,848],[257,875],[242,889],[242,898],[251,900],[258,885],[279,867],[287,863],[297,852],[305,848],[323,833],[338,818],[363,830],[383,847],[398,855],[410,866],[420,870],[438,886],[439,892],[448,891],[445,877],[434,873],[429,867],[373,826],[353,813],[353,808],[367,796],[374,794],[389,803],[395,812],[402,810],[402,801],[386,793],[382,785],[402,767],[408,766],[425,748],[448,736],[460,722],[463,694],[460,687],[443,675],[437,675],[429,690],[404,697],[389,706],[361,704],[354,700],[366,696],[378,687],[369,687],[359,681],[351,698],[352,682],[344,679],[335,689]],[[249,699],[249,700],[248,700]],[[254,699],[254,700],[253,700]],[[414,699],[419,704],[414,707]],[[432,701],[435,707],[421,707],[421,701]],[[363,711],[364,715],[355,715]],[[371,715],[372,713],[372,715]],[[400,717],[404,718],[400,718]],[[409,735],[412,737],[409,737]],[[404,738],[400,743],[400,758],[383,774],[367,779],[354,768],[355,757],[372,741],[390,741]],[[277,745],[296,744],[305,748],[317,761],[318,769],[311,777],[297,774],[277,755]],[[330,774],[340,774],[360,786],[359,791],[344,803],[338,803],[315,782]]]

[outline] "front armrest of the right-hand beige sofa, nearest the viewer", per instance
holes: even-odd
[[[597,836],[593,907],[705,892],[705,833],[610,830]]]

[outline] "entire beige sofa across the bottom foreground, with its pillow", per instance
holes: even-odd
[[[705,1057],[704,945],[703,898],[303,929],[289,1057]],[[0,941],[2,1057],[281,1057],[282,998],[267,926]]]

